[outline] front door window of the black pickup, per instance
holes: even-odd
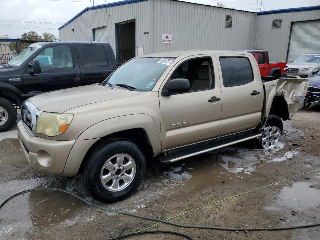
[[[73,68],[71,49],[68,46],[52,46],[43,49],[37,57],[41,71],[46,72],[58,68]]]

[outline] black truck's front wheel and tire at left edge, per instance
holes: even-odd
[[[17,118],[17,111],[7,99],[0,97],[0,132],[12,128]]]

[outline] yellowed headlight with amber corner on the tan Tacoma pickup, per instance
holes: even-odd
[[[46,136],[57,136],[66,131],[71,121],[73,114],[60,114],[43,112],[36,122],[36,133]]]

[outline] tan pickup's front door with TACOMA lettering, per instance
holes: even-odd
[[[171,70],[159,91],[162,150],[220,136],[222,94],[214,69],[216,61],[211,56],[193,56]],[[188,79],[190,91],[162,96],[167,81],[176,78]]]

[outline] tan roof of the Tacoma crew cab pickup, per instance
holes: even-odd
[[[177,58],[179,56],[192,56],[192,55],[203,55],[203,54],[242,54],[242,55],[250,55],[244,51],[223,51],[223,50],[186,50],[186,51],[168,51],[168,52],[158,52],[147,54],[143,56],[138,56],[137,58],[145,58],[145,57],[172,57]]]

